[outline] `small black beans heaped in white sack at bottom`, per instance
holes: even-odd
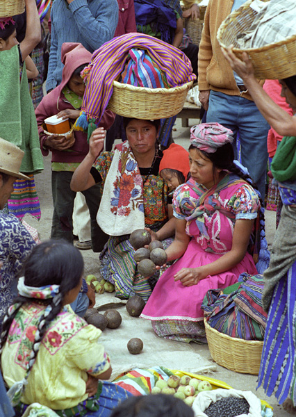
[[[226,397],[212,402],[204,414],[208,417],[236,417],[249,413],[249,402],[245,398]]]

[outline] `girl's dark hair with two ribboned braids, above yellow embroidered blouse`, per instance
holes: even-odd
[[[28,361],[28,373],[38,354],[40,343],[48,325],[63,308],[63,300],[68,291],[79,285],[83,274],[83,257],[79,250],[65,240],[47,240],[33,247],[31,254],[24,263],[22,270],[24,284],[32,287],[58,285],[58,293],[48,300],[40,300],[47,305],[40,317],[35,332],[33,348]],[[14,300],[13,308],[8,309],[3,320],[0,352],[3,349],[10,326],[17,312],[24,304],[33,302],[33,298],[19,296]]]

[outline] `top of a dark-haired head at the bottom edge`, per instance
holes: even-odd
[[[117,406],[110,417],[193,417],[194,413],[183,400],[166,394],[131,397]]]

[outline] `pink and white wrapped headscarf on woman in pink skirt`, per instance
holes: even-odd
[[[219,123],[201,123],[190,129],[191,145],[213,154],[218,147],[233,141],[233,132]]]

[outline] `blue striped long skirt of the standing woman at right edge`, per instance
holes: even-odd
[[[296,262],[274,289],[268,311],[258,386],[274,394],[282,404],[291,398],[296,404]]]

